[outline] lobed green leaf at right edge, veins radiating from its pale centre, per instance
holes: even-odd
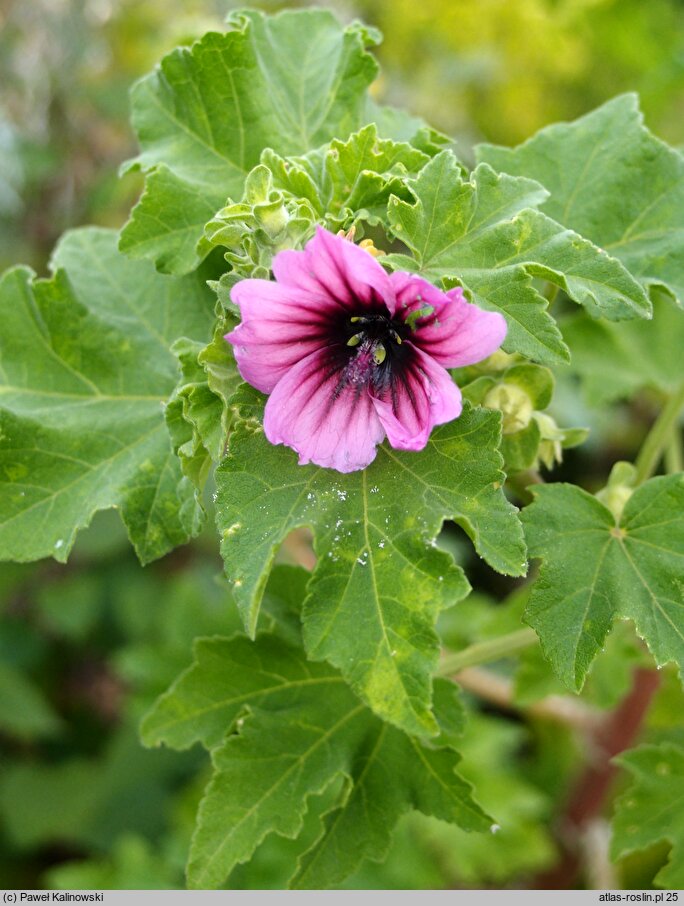
[[[684,671],[684,475],[646,482],[619,520],[573,485],[534,495],[522,519],[543,563],[525,619],[563,682],[582,688],[617,617],[633,620],[657,664]]]

